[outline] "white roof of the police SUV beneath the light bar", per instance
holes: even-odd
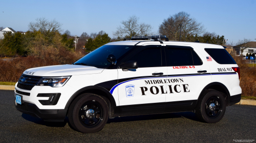
[[[180,41],[161,41],[163,44],[172,44],[180,46],[192,46],[198,48],[223,48],[221,45],[208,44],[208,43],[198,43],[198,42],[180,42]],[[150,41],[150,40],[129,40],[129,41],[118,41],[111,42],[105,45],[148,45],[148,44],[160,44],[160,41]]]

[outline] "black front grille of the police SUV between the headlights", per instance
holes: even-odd
[[[21,79],[25,78],[26,81],[22,83]],[[18,79],[17,87],[23,90],[32,90],[32,88],[36,85],[36,83],[40,80],[39,76],[30,76],[22,74]]]

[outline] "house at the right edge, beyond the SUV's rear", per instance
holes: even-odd
[[[244,47],[248,47],[244,49],[242,55],[246,56],[246,53],[256,53],[256,42],[248,42],[241,45],[233,46],[233,50],[236,51],[237,55],[241,55],[241,49]]]

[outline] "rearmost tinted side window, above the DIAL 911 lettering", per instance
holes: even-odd
[[[219,64],[237,64],[225,49],[205,48],[204,50]]]

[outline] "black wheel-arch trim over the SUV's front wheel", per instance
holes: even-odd
[[[113,95],[108,91],[106,90],[105,88],[102,88],[102,87],[99,87],[97,85],[92,85],[92,86],[88,86],[88,87],[84,87],[78,91],[76,91],[69,99],[69,101],[67,102],[66,106],[65,106],[65,109],[68,109],[70,104],[72,103],[72,101],[80,94],[80,93],[83,93],[87,90],[98,90],[98,91],[101,91],[101,92],[104,92],[106,96],[109,97],[110,99],[110,102],[112,104],[112,106],[115,108],[116,107],[116,101],[113,97]]]

